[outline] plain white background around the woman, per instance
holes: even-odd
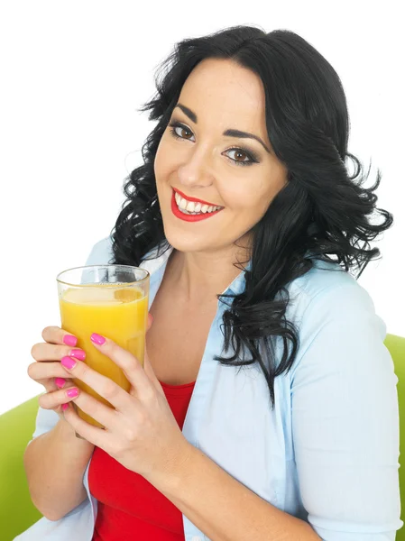
[[[260,4],[262,7],[260,7]],[[388,332],[402,316],[404,173],[400,2],[19,2],[0,8],[0,414],[43,388],[27,375],[44,326],[60,325],[56,275],[84,264],[115,224],[124,178],[154,123],[137,109],[173,45],[235,24],[299,33],[336,69],[349,151],[382,170],[395,225],[359,282]]]

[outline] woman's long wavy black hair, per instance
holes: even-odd
[[[334,261],[345,271],[354,269],[358,278],[380,256],[370,241],[391,227],[393,218],[375,205],[380,170],[375,184],[364,188],[370,170],[364,177],[360,161],[347,151],[349,115],[335,69],[294,32],[266,33],[238,25],[179,41],[162,62],[155,76],[157,93],[140,109],[149,110],[149,119],[158,123],[143,144],[143,165],[125,179],[126,200],[111,235],[112,262],[137,266],[152,248],[158,247],[157,255],[170,248],[153,163],[181,87],[198,63],[208,58],[233,60],[262,79],[269,140],[288,170],[285,187],[253,226],[252,269],[245,272],[244,291],[217,295],[232,298],[226,303],[229,309],[221,328],[224,351],[232,344],[233,354],[216,356],[216,361],[239,367],[259,362],[273,408],[274,379],[290,370],[299,349],[297,328],[285,317],[290,301],[286,286],[312,268],[313,258]],[[355,163],[352,176],[347,158]],[[382,224],[371,223],[373,213],[382,216]],[[284,352],[276,365],[272,339],[278,337]],[[246,351],[252,358],[241,361]]]

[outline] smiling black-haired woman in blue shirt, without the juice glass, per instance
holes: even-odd
[[[164,67],[144,165],[87,259],[151,272],[144,371],[95,329],[126,393],[44,329],[24,464],[46,518],[17,538],[393,540],[398,379],[350,272],[392,216],[347,151],[340,79],[294,32],[248,26],[181,41]]]

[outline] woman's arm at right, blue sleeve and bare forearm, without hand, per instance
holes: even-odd
[[[313,300],[300,334],[292,431],[309,524],[189,444],[170,472],[148,481],[213,541],[393,541],[403,524],[398,378],[383,344],[385,326],[354,284]]]

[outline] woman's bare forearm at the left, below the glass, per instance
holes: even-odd
[[[94,445],[76,437],[62,418],[27,446],[23,463],[29,491],[44,517],[58,520],[87,499],[83,475],[93,449]]]

